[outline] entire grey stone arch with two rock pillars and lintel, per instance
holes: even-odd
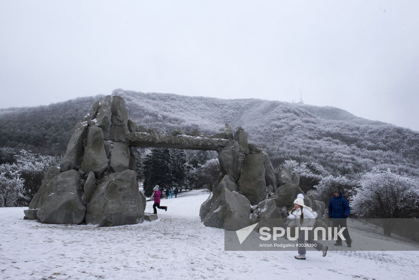
[[[133,153],[137,146],[217,150],[222,175],[201,205],[199,215],[205,226],[237,230],[261,218],[284,219],[282,207],[290,207],[302,193],[299,176],[283,170],[278,180],[268,154],[248,144],[247,138],[241,127],[233,134],[229,124],[216,135],[197,130],[162,135],[129,120],[120,96],[106,96],[75,125],[61,166],[45,172],[24,210],[25,218],[98,226],[141,223],[146,199],[137,184]],[[306,199],[313,205],[313,197],[308,194]],[[229,218],[236,222],[225,222]]]

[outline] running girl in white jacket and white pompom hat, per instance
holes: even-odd
[[[308,231],[308,240],[304,240],[304,231],[299,231],[298,255],[295,256],[295,258],[305,259],[305,242],[307,242],[308,246],[315,248],[317,251],[322,251],[323,257],[326,257],[328,247],[323,246],[323,244],[313,239],[313,226],[314,222],[316,221],[316,216],[310,207],[304,205],[303,198],[304,196],[302,194],[297,196],[297,199],[294,200],[294,208],[291,210],[290,215],[288,216],[288,218],[292,220],[292,222],[288,225],[289,227],[297,226],[298,228],[311,228],[311,230]]]

